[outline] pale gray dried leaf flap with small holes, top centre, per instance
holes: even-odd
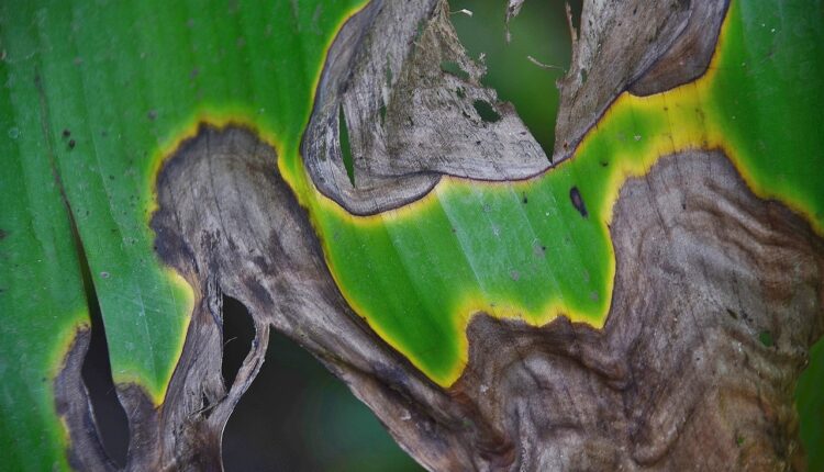
[[[447,7],[374,1],[330,49],[302,154],[318,189],[350,213],[409,203],[443,175],[514,180],[549,167],[514,108],[481,86],[486,69],[467,57]],[[355,186],[343,165],[339,110]]]

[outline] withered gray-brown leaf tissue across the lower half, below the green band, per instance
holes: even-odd
[[[158,199],[158,252],[199,302],[163,406],[121,386],[129,470],[219,470],[223,425],[272,328],[344,380],[431,470],[803,463],[792,392],[824,330],[824,247],[801,217],[753,195],[720,153],[662,158],[622,189],[603,330],[476,314],[469,363],[448,390],[347,306],[274,149],[249,130],[202,126],[164,167]],[[257,331],[232,385],[220,366],[223,293],[249,308]],[[97,469],[105,458],[73,377],[82,339],[58,380],[58,405],[74,463]]]

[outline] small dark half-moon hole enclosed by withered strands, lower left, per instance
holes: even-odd
[[[255,340],[255,323],[237,300],[223,295],[223,384],[231,389]]]

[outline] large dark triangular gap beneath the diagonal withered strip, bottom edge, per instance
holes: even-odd
[[[224,305],[226,319],[243,305]],[[272,331],[223,435],[231,471],[420,471],[372,413],[309,352]]]

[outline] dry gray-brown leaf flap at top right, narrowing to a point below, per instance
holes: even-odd
[[[572,31],[577,41],[569,72],[558,83],[554,161],[571,155],[624,90],[652,94],[702,75],[727,4],[727,0],[584,1],[580,32]]]

